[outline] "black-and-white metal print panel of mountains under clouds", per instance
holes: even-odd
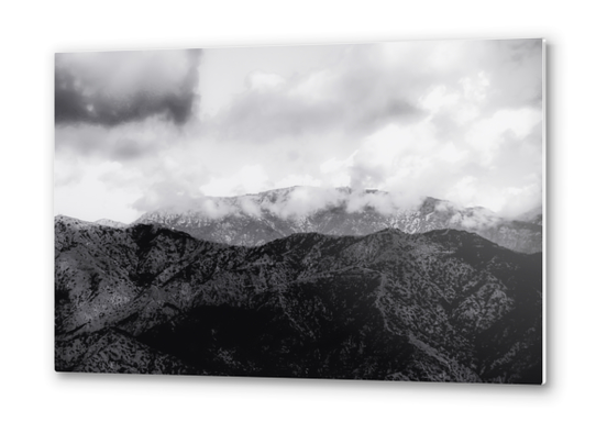
[[[541,40],[55,57],[55,368],[543,382]]]

